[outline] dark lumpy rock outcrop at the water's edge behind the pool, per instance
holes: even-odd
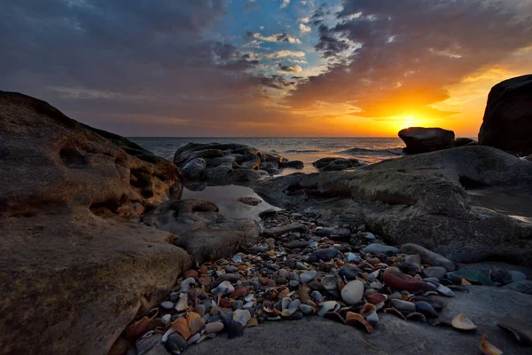
[[[201,160],[201,161],[200,161]],[[189,143],[174,154],[177,167],[184,170],[187,187],[206,181],[208,185],[250,185],[280,169],[302,169],[300,161],[289,161],[241,144]],[[205,162],[205,164],[203,164]]]

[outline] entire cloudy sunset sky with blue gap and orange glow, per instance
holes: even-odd
[[[0,90],[127,137],[475,137],[532,0],[0,0]]]

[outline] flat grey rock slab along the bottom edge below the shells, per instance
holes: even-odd
[[[223,349],[231,355],[253,354],[436,354],[478,355],[481,335],[507,354],[526,354],[513,335],[497,327],[506,314],[516,319],[532,317],[532,297],[500,288],[471,287],[471,293],[446,298],[442,318],[464,312],[478,326],[473,333],[460,333],[450,327],[432,327],[426,323],[405,321],[379,313],[380,322],[372,335],[317,316],[301,320],[267,322],[247,328],[244,336],[229,340],[219,335],[193,345],[188,355],[216,353]]]

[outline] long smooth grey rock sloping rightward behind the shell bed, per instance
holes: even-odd
[[[473,204],[464,185],[530,196],[532,164],[467,146],[358,171],[276,177],[254,190],[265,201],[308,208],[338,225],[365,224],[388,244],[416,243],[453,262],[499,257],[532,264],[532,225]]]

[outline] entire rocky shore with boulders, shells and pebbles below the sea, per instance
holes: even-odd
[[[532,116],[508,105],[531,80],[490,93],[480,146],[416,128],[401,158],[287,176],[301,162],[242,145],[168,162],[0,91],[2,352],[527,353]],[[528,136],[486,144],[508,122]],[[182,199],[216,185],[277,209]]]

